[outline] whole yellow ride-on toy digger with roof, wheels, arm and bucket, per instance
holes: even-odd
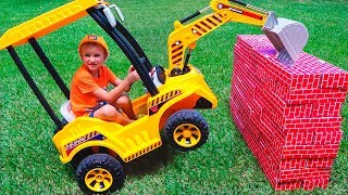
[[[185,24],[202,12],[212,10]],[[152,67],[137,41],[115,20],[121,11],[103,0],[75,0],[16,27],[0,38],[0,50],[7,49],[27,83],[57,125],[52,139],[63,164],[75,167],[78,185],[85,193],[108,193],[120,190],[124,182],[123,162],[128,162],[162,145],[161,131],[169,144],[178,151],[196,150],[209,135],[206,119],[196,108],[214,108],[217,100],[200,70],[188,63],[197,40],[228,22],[262,26],[278,51],[278,60],[291,64],[308,39],[306,27],[297,22],[276,18],[273,12],[239,2],[212,0],[210,6],[174,23],[167,39],[169,66]],[[37,39],[64,25],[90,15],[115,41],[138,72],[147,92],[133,101],[136,121],[121,126],[98,118],[76,118],[67,101],[61,107],[63,120],[54,114],[14,48],[29,43],[69,100],[70,91],[54,69]],[[296,36],[294,37],[294,34]]]

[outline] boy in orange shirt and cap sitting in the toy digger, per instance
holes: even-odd
[[[78,46],[83,65],[75,73],[71,83],[72,110],[78,116],[97,117],[123,126],[136,120],[132,101],[126,92],[139,75],[130,66],[124,80],[117,78],[105,65],[108,46],[102,37],[87,35]],[[109,83],[115,88],[107,91]],[[128,117],[122,115],[122,109]]]

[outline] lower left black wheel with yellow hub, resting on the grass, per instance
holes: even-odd
[[[94,154],[76,170],[79,188],[86,194],[108,194],[122,188],[124,171],[120,161],[107,154]]]

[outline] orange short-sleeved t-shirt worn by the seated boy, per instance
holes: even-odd
[[[99,68],[98,78],[94,78],[87,67],[82,65],[75,73],[71,83],[70,101],[74,114],[76,116],[83,116],[91,112],[91,108],[101,101],[91,92],[99,88],[107,90],[108,84],[116,79],[115,74],[104,65]]]

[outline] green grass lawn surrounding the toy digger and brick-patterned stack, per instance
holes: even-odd
[[[69,1],[1,1],[0,35],[65,2]],[[209,1],[116,2],[126,17],[124,26],[142,46],[150,61],[166,67],[166,37],[173,29],[173,22],[207,6]],[[274,10],[277,16],[300,21],[310,31],[310,40],[304,51],[348,69],[346,0],[250,0],[248,3]],[[91,32],[105,37],[100,27],[86,17],[39,39],[66,83],[70,83],[80,63],[76,52],[78,41],[84,35]],[[229,115],[232,50],[236,36],[245,34],[262,31],[254,26],[228,24],[199,40],[192,52],[191,63],[202,70],[220,101],[216,109],[202,112],[211,129],[208,143],[191,153],[178,153],[163,146],[125,165],[127,178],[120,194],[274,193]],[[107,41],[111,50],[108,64],[119,76],[124,76],[129,63],[122,52],[111,44],[110,38],[107,38]],[[35,76],[48,102],[58,112],[64,101],[63,94],[30,47],[20,47],[16,51]],[[0,52],[0,194],[80,194],[74,171],[69,165],[60,162],[51,142],[54,123],[36,100],[7,51]],[[138,84],[132,95],[137,96],[140,93],[142,89]],[[348,191],[347,103],[343,106],[341,116],[345,135],[333,166],[330,186],[326,190],[314,190],[314,194],[344,194]]]

